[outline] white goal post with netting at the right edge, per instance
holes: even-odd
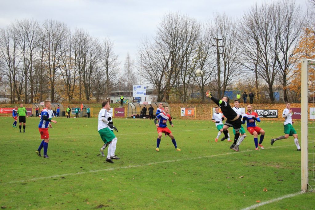
[[[312,66],[312,69],[309,67]],[[310,70],[310,71],[309,71]],[[301,67],[301,190],[315,191],[315,60],[302,59]],[[313,109],[312,109],[313,110]],[[315,109],[314,109],[315,111]],[[313,112],[313,111],[312,111]]]

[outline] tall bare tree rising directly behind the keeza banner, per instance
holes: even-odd
[[[274,3],[264,3],[261,6],[258,6],[256,3],[243,16],[243,25],[248,33],[247,37],[250,39],[247,44],[251,44],[252,48],[254,46],[257,47],[258,71],[255,71],[255,68],[254,70],[251,68],[251,70],[267,83],[271,102],[274,102],[273,84],[278,74],[275,55],[278,54],[279,32],[274,27],[276,18],[275,10]],[[249,61],[255,62],[255,56],[252,56]]]

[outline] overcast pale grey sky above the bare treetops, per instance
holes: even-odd
[[[266,0],[277,2],[281,0]],[[129,52],[135,60],[144,37],[152,37],[164,14],[179,12],[200,22],[214,13],[241,17],[254,0],[0,0],[0,28],[14,20],[59,20],[73,31],[83,28],[93,37],[109,37],[122,62]],[[258,0],[259,3],[265,2]],[[307,0],[296,0],[303,9]]]

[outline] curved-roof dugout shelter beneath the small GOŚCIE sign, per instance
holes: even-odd
[[[140,104],[140,103],[128,103],[128,117],[133,118],[133,116],[137,116],[136,118],[140,118],[140,114],[142,111],[143,106],[146,107],[146,117],[149,116],[149,107],[152,105],[153,107],[153,116],[155,116],[155,113],[157,111],[159,103],[163,104],[164,106],[169,106],[169,103],[167,102],[151,102],[151,104]],[[171,108],[169,107],[169,114],[171,114]]]

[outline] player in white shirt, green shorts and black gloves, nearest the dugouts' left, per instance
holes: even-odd
[[[102,109],[100,110],[99,116],[98,116],[98,132],[100,133],[100,137],[102,141],[104,142],[104,145],[102,148],[100,148],[100,154],[102,156],[104,155],[104,149],[108,146],[108,153],[106,157],[106,162],[114,163],[112,159],[119,159],[119,158],[111,158],[112,153],[112,145],[111,143],[113,141],[117,142],[117,138],[114,134],[114,132],[111,130],[111,128],[115,129],[117,132],[117,128],[110,123],[112,120],[112,115],[109,113],[109,110],[111,109],[111,106],[109,105],[109,101],[103,101],[102,102]]]

